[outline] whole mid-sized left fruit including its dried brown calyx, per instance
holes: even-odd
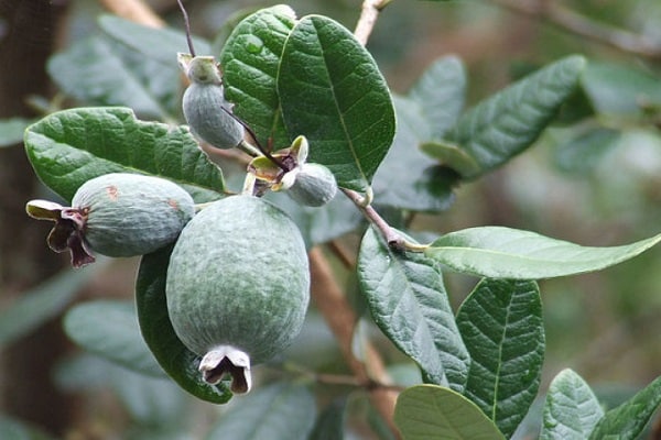
[[[107,256],[153,252],[176,240],[193,218],[193,198],[178,185],[151,176],[111,173],[83,184],[72,207],[31,200],[33,218],[55,221],[48,245],[71,251],[72,265],[93,263],[93,251]]]

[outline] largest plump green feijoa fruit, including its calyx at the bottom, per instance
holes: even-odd
[[[167,267],[167,310],[175,333],[203,356],[206,382],[226,374],[250,391],[250,367],[299,334],[310,300],[310,271],[297,227],[279,208],[231,196],[197,213]]]

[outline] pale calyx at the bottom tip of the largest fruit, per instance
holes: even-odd
[[[215,346],[204,355],[198,370],[204,381],[212,385],[216,385],[229,374],[231,376],[229,389],[235,394],[246,394],[252,387],[250,356],[231,345]]]

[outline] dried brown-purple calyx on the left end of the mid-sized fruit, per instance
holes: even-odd
[[[46,242],[55,252],[68,250],[72,255],[72,266],[83,267],[96,261],[83,234],[86,222],[84,210],[65,208],[54,201],[37,199],[30,200],[25,205],[25,211],[34,219],[55,222]]]

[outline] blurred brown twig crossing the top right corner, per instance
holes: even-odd
[[[619,51],[651,59],[661,58],[661,45],[629,31],[597,22],[557,1],[491,0],[494,4],[512,12],[546,21],[548,23]]]

